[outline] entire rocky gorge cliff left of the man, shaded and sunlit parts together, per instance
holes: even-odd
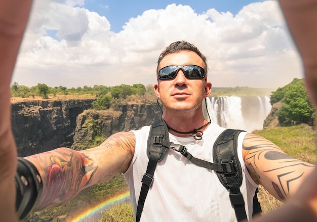
[[[93,101],[35,100],[13,103],[12,130],[18,155],[23,157],[58,147],[86,149],[96,136],[96,130],[107,138],[118,131],[152,124],[162,115],[155,102],[120,104],[114,111],[96,111],[91,109]],[[94,128],[85,124],[87,119],[95,124]]]

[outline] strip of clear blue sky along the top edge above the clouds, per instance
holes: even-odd
[[[167,5],[175,3],[176,5],[188,5],[195,13],[203,13],[208,9],[216,9],[218,12],[231,12],[236,14],[244,6],[261,1],[237,1],[237,0],[195,0],[195,1],[127,1],[127,0],[88,0],[85,1],[85,8],[97,12],[101,16],[105,16],[111,24],[111,30],[120,32],[122,26],[132,17],[142,15],[142,13],[149,9],[165,9]]]

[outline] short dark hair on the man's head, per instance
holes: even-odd
[[[194,53],[196,53],[197,55],[199,55],[199,57],[202,58],[204,65],[205,65],[205,70],[207,73],[208,70],[208,66],[207,66],[207,58],[204,54],[201,53],[201,51],[199,51],[199,49],[197,47],[195,47],[193,44],[189,43],[188,41],[175,41],[173,43],[171,43],[171,45],[169,45],[168,47],[165,48],[165,50],[161,53],[159,59],[157,60],[157,68],[156,71],[158,71],[157,69],[159,69],[159,65],[162,61],[162,59],[170,54],[170,53],[178,53],[180,51],[183,50],[188,50],[188,51],[192,51]]]

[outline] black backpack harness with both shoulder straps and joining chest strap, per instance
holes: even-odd
[[[214,163],[211,163],[193,157],[189,152],[187,152],[186,147],[170,142],[168,128],[162,117],[154,122],[150,128],[147,141],[147,156],[149,158],[149,162],[146,172],[142,178],[142,187],[137,206],[136,221],[140,221],[148,190],[153,183],[153,174],[156,164],[164,158],[167,149],[173,149],[180,152],[184,157],[196,165],[214,170],[217,173],[221,184],[229,190],[230,201],[234,208],[237,220],[240,221],[246,219],[247,214],[245,210],[245,202],[240,191],[243,177],[242,168],[236,149],[237,137],[242,131],[243,130],[226,129],[219,135],[213,147]],[[253,198],[253,207],[253,215],[262,212],[256,193]]]

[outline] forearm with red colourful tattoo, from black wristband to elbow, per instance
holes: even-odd
[[[43,182],[35,211],[60,205],[92,185],[94,167],[80,152],[59,148],[26,159],[34,164]]]

